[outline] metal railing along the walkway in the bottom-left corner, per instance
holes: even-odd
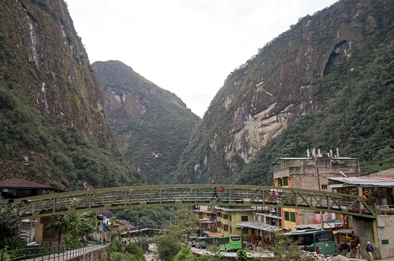
[[[0,252],[0,261],[66,261],[107,245],[88,242],[83,247],[30,247]]]

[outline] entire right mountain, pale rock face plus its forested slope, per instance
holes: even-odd
[[[228,76],[177,182],[268,184],[276,157],[312,147],[339,147],[363,172],[390,166],[393,146],[355,153],[394,143],[393,36],[390,0],[340,0],[300,19]]]

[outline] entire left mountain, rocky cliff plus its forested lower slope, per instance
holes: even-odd
[[[141,180],[63,0],[0,1],[0,178],[16,176],[68,189]]]

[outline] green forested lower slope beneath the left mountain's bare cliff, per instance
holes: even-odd
[[[18,90],[0,83],[0,179],[23,178],[56,187],[138,185],[141,175],[118,153],[82,138],[70,126],[55,125],[23,103]]]

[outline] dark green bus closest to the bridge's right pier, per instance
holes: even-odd
[[[287,232],[285,235],[290,236],[298,244],[299,249],[325,256],[338,255],[332,231],[317,229],[296,230]]]

